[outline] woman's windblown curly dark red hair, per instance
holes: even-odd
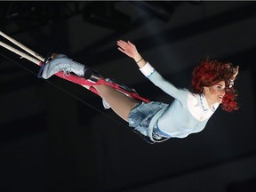
[[[193,69],[192,85],[198,94],[203,93],[204,86],[209,87],[225,81],[226,94],[222,100],[222,109],[228,112],[237,110],[237,92],[232,86],[228,88],[230,79],[233,77],[233,65],[230,62],[221,63],[216,60],[203,60]]]

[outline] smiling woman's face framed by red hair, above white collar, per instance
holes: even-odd
[[[204,87],[204,96],[211,107],[214,103],[221,103],[225,95],[225,81],[220,81],[218,84],[213,84],[210,87]]]

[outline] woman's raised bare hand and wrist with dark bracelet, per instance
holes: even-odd
[[[137,51],[136,46],[132,44],[130,41],[125,42],[124,40],[118,40],[117,45],[118,50],[120,52],[124,52],[124,54],[131,57],[137,63],[139,68],[142,68],[146,65],[146,60],[142,58],[140,53]]]

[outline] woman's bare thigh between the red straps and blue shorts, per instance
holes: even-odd
[[[132,100],[124,93],[118,92],[106,84],[94,85],[94,88],[99,92],[100,97],[108,102],[116,114],[128,122],[128,115],[138,101]]]

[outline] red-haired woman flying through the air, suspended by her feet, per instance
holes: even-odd
[[[228,112],[238,109],[236,90],[233,87],[238,68],[231,63],[216,60],[203,60],[193,69],[192,85],[194,92],[180,89],[161,76],[148,61],[141,57],[130,41],[118,40],[118,50],[131,57],[141,73],[153,84],[169,94],[172,103],[133,100],[131,97],[106,84],[92,85],[100,97],[116,114],[129,123],[136,132],[148,140],[161,142],[170,138],[185,138],[191,133],[204,130],[210,117],[221,105]],[[90,68],[59,54],[51,60],[43,71],[44,79],[64,71],[84,76]]]

